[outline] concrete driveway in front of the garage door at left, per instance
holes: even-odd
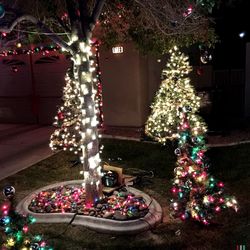
[[[51,126],[0,124],[0,180],[52,155],[53,130]]]

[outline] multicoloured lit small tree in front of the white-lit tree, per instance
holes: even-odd
[[[178,127],[177,167],[173,181],[171,200],[172,215],[183,220],[192,218],[207,225],[222,209],[237,211],[237,201],[226,196],[224,184],[208,173],[209,163],[204,136],[193,134],[190,125],[190,107],[180,109]]]

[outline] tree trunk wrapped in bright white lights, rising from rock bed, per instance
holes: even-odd
[[[79,43],[80,53],[73,57],[74,76],[79,81],[79,100],[81,103],[81,149],[86,202],[93,203],[102,197],[99,138],[97,131],[97,111],[95,109],[96,91],[93,87],[91,47],[89,42]]]

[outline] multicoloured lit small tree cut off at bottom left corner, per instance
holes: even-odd
[[[15,211],[13,197],[15,189],[12,186],[4,188],[3,193],[7,198],[0,211],[0,236],[2,250],[53,250],[42,239],[41,235],[32,235],[29,225],[35,223],[35,218],[23,216]]]

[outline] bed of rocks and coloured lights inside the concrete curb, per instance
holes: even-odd
[[[81,186],[61,186],[42,191],[31,200],[29,210],[35,213],[77,213],[107,219],[128,220],[144,217],[148,206],[143,197],[127,191],[86,204]]]

